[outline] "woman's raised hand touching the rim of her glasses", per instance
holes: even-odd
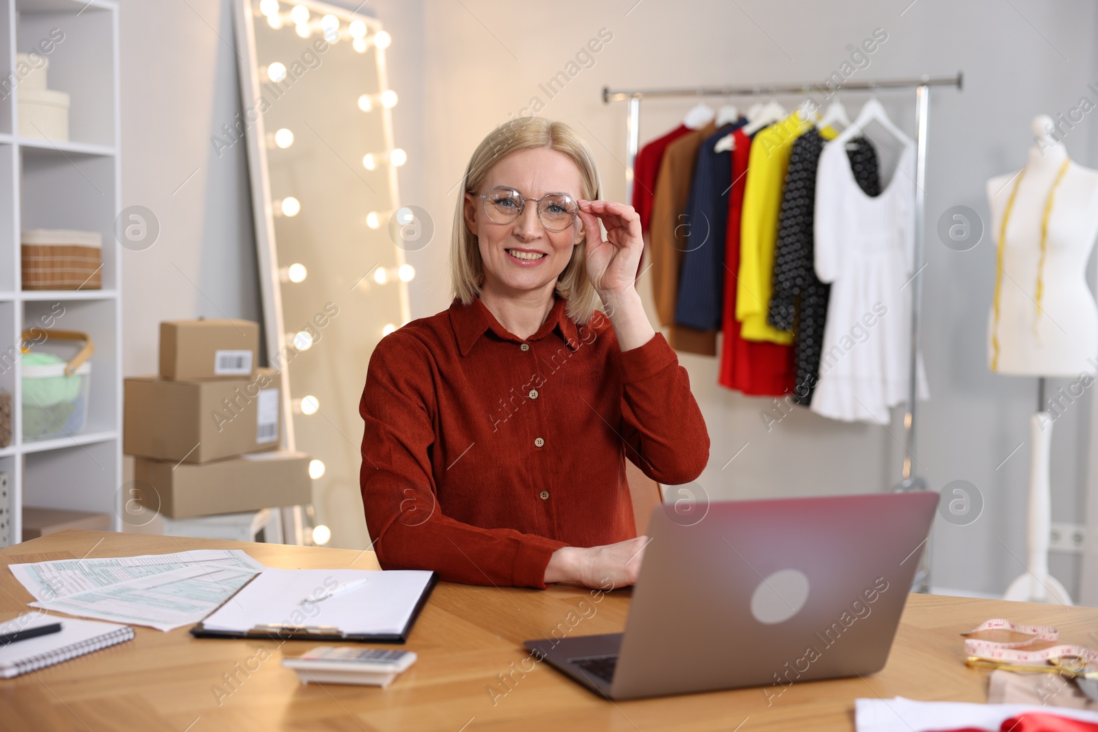
[[[632,290],[645,241],[640,215],[632,206],[609,201],[581,200],[580,218],[587,235],[587,277],[600,295]],[[598,229],[606,227],[603,239]]]

